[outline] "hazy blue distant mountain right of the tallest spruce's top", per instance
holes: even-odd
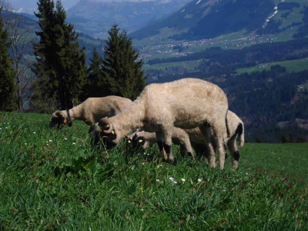
[[[112,24],[132,32],[180,9],[189,0],[99,2],[81,0],[67,10],[67,20],[76,30],[106,38]]]

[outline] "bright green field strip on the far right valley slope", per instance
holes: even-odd
[[[265,64],[265,63],[264,63]],[[260,64],[261,66],[262,64]],[[253,71],[263,71],[263,70],[270,70],[271,66],[280,65],[282,67],[286,67],[286,70],[289,72],[292,71],[302,71],[308,68],[308,59],[294,59],[294,60],[286,60],[281,62],[273,62],[273,63],[266,63],[267,67],[245,67],[239,68],[236,70],[237,74],[241,74],[244,72],[251,73]]]

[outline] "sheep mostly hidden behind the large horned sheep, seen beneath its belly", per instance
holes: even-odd
[[[232,168],[235,170],[238,166],[238,161],[240,157],[240,153],[237,148],[236,139],[237,135],[240,135],[240,143],[239,147],[243,147],[244,145],[244,123],[243,121],[232,111],[228,111],[227,113],[227,123],[230,129],[230,138],[227,141],[229,152],[232,156]],[[154,143],[156,143],[156,135],[154,132],[136,132],[132,135],[125,137],[128,142],[130,142],[134,147],[141,146],[142,148],[151,147]],[[193,129],[180,129],[175,128],[172,133],[172,142],[173,144],[180,145],[180,152],[183,153],[188,152],[188,155],[192,152],[191,146],[195,149],[196,154],[202,155],[209,158],[209,153],[207,148],[204,146],[205,139],[199,128]],[[212,141],[214,142],[214,141]],[[191,144],[191,145],[190,145]],[[213,144],[215,150],[216,144]],[[226,159],[225,155],[225,159]]]

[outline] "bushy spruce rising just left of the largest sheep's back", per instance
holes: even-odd
[[[126,31],[119,33],[119,30],[117,25],[111,27],[104,47],[106,93],[135,99],[145,86],[143,60],[136,62],[139,54],[132,47],[132,39],[127,37]]]

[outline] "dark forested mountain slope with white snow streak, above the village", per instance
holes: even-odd
[[[170,37],[177,40],[215,38],[241,30],[257,34],[281,33],[307,23],[305,4],[299,0],[193,0],[130,36],[143,39],[159,34],[165,27],[177,31]]]

